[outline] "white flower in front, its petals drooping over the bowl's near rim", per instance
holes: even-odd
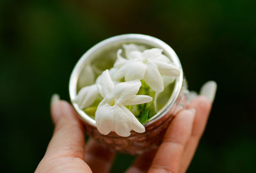
[[[128,137],[131,130],[138,133],[145,132],[145,127],[136,119],[125,105],[138,105],[152,101],[150,96],[136,95],[141,87],[140,80],[114,84],[109,71],[102,73],[99,87],[104,98],[99,103],[95,113],[97,129],[103,135],[112,130],[122,137]]]

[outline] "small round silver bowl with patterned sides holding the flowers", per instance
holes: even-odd
[[[83,110],[79,109],[76,103],[72,102],[79,90],[77,82],[79,81],[79,77],[81,76],[84,67],[88,65],[88,63],[91,63],[93,60],[99,58],[99,56],[104,56],[109,52],[116,52],[123,44],[128,43],[163,49],[163,54],[169,57],[175,66],[180,68],[180,77],[177,77],[175,80],[173,91],[168,102],[157,112],[157,114],[152,116],[147,123],[143,124],[143,126],[145,126],[144,133],[132,131],[129,137],[120,137],[116,135],[115,132],[111,132],[108,135],[102,135],[97,130],[95,120],[88,116]],[[106,56],[106,58],[108,58],[108,56]],[[114,62],[115,59],[109,59],[109,61]],[[173,119],[173,115],[182,109],[186,103],[188,89],[179,57],[169,45],[152,36],[143,34],[123,34],[113,36],[97,43],[97,45],[89,49],[81,59],[79,59],[70,77],[69,94],[74,109],[86,126],[86,133],[88,133],[88,135],[99,141],[102,146],[108,147],[108,149],[113,151],[129,154],[142,154],[152,149],[156,149],[159,144],[161,144],[164,133]]]

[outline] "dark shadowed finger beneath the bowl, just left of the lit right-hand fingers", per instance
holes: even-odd
[[[126,173],[144,173],[148,172],[148,169],[154,159],[156,150],[144,153],[136,158],[132,163],[131,167],[126,171]]]

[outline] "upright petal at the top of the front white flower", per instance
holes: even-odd
[[[100,94],[102,94],[104,98],[111,98],[111,92],[115,85],[111,80],[108,70],[103,71],[102,76],[100,77],[100,86],[102,87],[102,92],[100,92]]]

